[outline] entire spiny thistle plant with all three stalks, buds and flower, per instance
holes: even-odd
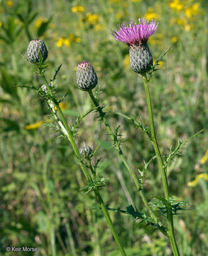
[[[153,144],[155,156],[153,156],[147,163],[145,162],[143,169],[141,170],[133,169],[133,167],[128,163],[126,156],[121,149],[122,140],[119,131],[120,127],[115,127],[112,129],[111,125],[109,124],[107,119],[107,110],[104,110],[104,106],[100,104],[100,87],[98,90],[96,90],[98,79],[97,73],[95,72],[92,65],[88,61],[82,61],[77,65],[77,87],[84,91],[83,93],[88,93],[90,99],[92,100],[93,106],[85,114],[77,117],[75,124],[68,124],[65,114],[62,112],[60,107],[60,102],[62,102],[62,100],[65,98],[65,95],[62,98],[58,98],[56,94],[57,89],[55,80],[57,79],[61,65],[57,70],[55,70],[53,79],[48,80],[48,78],[45,77],[45,70],[48,68],[48,65],[44,64],[45,60],[48,58],[48,50],[45,46],[45,43],[41,40],[35,39],[29,43],[27,50],[28,60],[36,65],[38,74],[43,80],[39,87],[31,86],[29,88],[38,92],[38,95],[45,101],[45,104],[48,106],[48,110],[54,117],[54,127],[56,128],[56,132],[60,132],[61,136],[65,137],[70,143],[76,162],[80,166],[80,169],[82,170],[82,173],[85,177],[85,186],[80,188],[80,190],[87,191],[87,193],[94,193],[94,197],[99,203],[99,208],[102,210],[104,218],[106,219],[106,223],[111,229],[111,233],[114,236],[117,246],[119,247],[119,251],[121,255],[124,256],[126,255],[126,252],[123,245],[121,244],[119,235],[116,232],[114,223],[111,220],[109,211],[116,211],[117,213],[131,215],[134,220],[140,220],[141,223],[152,226],[154,230],[160,230],[165,236],[169,238],[170,245],[173,249],[173,254],[175,256],[180,255],[175,239],[173,215],[177,214],[178,210],[183,209],[183,207],[186,206],[186,203],[183,201],[177,201],[171,197],[166,171],[170,160],[179,153],[180,149],[182,149],[182,146],[184,146],[197,134],[202,132],[198,132],[197,134],[187,139],[185,142],[179,142],[175,149],[170,149],[170,154],[168,156],[163,158],[160,154],[160,148],[158,146],[158,140],[155,132],[149,84],[150,79],[153,77],[153,73],[156,70],[158,62],[165,56],[169,49],[163,52],[153,65],[153,57],[148,48],[148,38],[157,31],[157,28],[158,23],[156,23],[156,21],[149,22],[144,18],[140,18],[138,20],[138,24],[133,21],[128,23],[128,25],[126,25],[126,23],[122,23],[121,25],[118,25],[118,31],[113,30],[112,32],[112,35],[117,41],[124,42],[128,45],[131,68],[134,72],[142,75],[143,85],[146,91],[146,101],[149,116],[148,127],[143,125],[141,120],[137,121],[134,117],[128,117],[126,114],[116,112],[116,114],[121,115],[121,117],[128,119],[132,124],[136,126],[136,128],[142,129],[142,131],[148,135],[148,139],[150,140],[151,144]],[[93,90],[96,90],[96,94],[94,94]],[[136,186],[138,196],[140,196],[141,201],[145,206],[143,211],[139,210],[136,206],[135,198],[131,198],[131,205],[126,207],[126,210],[121,210],[120,208],[110,208],[104,204],[102,194],[99,190],[106,186],[107,178],[99,176],[97,172],[97,167],[99,165],[99,161],[101,161],[101,158],[96,160],[94,156],[97,153],[98,147],[97,149],[92,150],[90,146],[84,144],[84,146],[79,149],[75,140],[80,122],[82,122],[82,120],[88,114],[94,111],[97,112],[99,118],[102,120],[104,126],[106,127],[114,149],[116,149],[117,153],[119,154],[121,162],[127,169],[129,176]],[[155,196],[152,201],[148,202],[148,198],[146,198],[143,190],[143,183],[145,173],[148,171],[148,166],[151,161],[154,161],[154,159],[157,159],[158,161],[158,169],[162,178],[163,191],[165,196]],[[168,223],[167,225],[160,221],[160,217],[155,214],[155,210],[159,210],[160,213],[165,216]],[[54,241],[55,239],[53,235],[53,241],[51,242],[53,247],[52,255],[56,256]]]

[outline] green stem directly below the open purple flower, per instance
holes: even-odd
[[[168,178],[167,178],[167,175],[166,175],[166,172],[165,172],[165,168],[164,168],[164,165],[163,165],[163,159],[162,159],[162,156],[160,154],[160,149],[159,149],[156,134],[155,134],[153,109],[152,109],[152,105],[151,105],[150,91],[149,91],[148,80],[146,78],[146,75],[143,75],[143,83],[144,83],[144,87],[145,87],[145,90],[146,90],[146,100],[147,100],[147,104],[148,104],[148,115],[149,115],[149,122],[150,122],[151,142],[152,142],[153,147],[155,149],[155,154],[156,154],[157,160],[158,160],[160,175],[162,176],[165,199],[166,199],[166,201],[169,201],[170,200],[170,191],[169,191],[169,187],[168,187]],[[174,255],[179,256],[180,253],[179,253],[179,250],[177,248],[177,243],[176,243],[176,240],[175,240],[175,234],[174,234],[174,228],[173,228],[173,213],[172,213],[171,208],[168,208],[168,237],[170,238],[170,243],[171,243],[171,246],[173,248]]]

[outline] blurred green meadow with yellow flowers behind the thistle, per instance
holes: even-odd
[[[104,83],[100,99],[106,110],[141,116],[148,124],[141,77],[129,66],[128,46],[110,33],[116,24],[140,17],[159,22],[148,41],[153,58],[172,46],[150,85],[163,156],[179,138],[184,141],[205,129],[172,161],[168,181],[172,196],[189,204],[175,216],[181,254],[207,255],[207,1],[194,0],[0,1],[0,255],[14,255],[6,246],[23,245],[38,247],[28,255],[51,255],[53,234],[57,255],[119,255],[93,195],[79,191],[86,181],[68,142],[49,127],[52,117],[43,100],[16,86],[43,85],[26,60],[28,42],[40,38],[48,48],[45,75],[53,78],[62,63],[56,85],[60,97],[69,91],[62,110],[70,124],[91,107],[86,92],[75,87],[82,60],[92,63],[99,85]],[[125,210],[128,193],[135,198],[136,188],[96,117],[92,113],[84,119],[77,145],[85,142],[95,149],[101,143],[99,174],[109,177],[102,189],[104,202]],[[146,134],[113,112],[106,117],[111,127],[121,125],[122,149],[134,169],[154,156]],[[150,164],[144,190],[148,201],[163,196],[156,161]],[[135,200],[142,210],[140,198]],[[172,255],[162,233],[141,228],[128,215],[111,212],[111,218],[128,255]]]

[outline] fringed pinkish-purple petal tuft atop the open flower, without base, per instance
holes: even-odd
[[[126,26],[126,22],[118,25],[119,30],[111,34],[117,41],[127,43],[128,45],[147,42],[148,38],[157,31],[158,23],[156,21],[147,21],[145,18],[139,18],[138,24],[131,21]]]

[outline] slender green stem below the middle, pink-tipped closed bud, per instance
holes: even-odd
[[[109,126],[109,123],[107,122],[107,119],[106,119],[106,117],[104,116],[105,114],[104,114],[104,112],[102,111],[102,107],[100,107],[98,100],[94,97],[92,90],[89,90],[88,93],[89,93],[89,96],[91,97],[92,102],[94,103],[95,107],[97,107],[97,111],[99,112],[99,115],[100,115],[102,121],[104,122],[104,124],[105,124],[105,126],[106,126],[106,129],[107,129],[107,131],[109,132],[109,134],[110,134],[110,136],[111,136],[112,141],[114,142],[114,141],[115,141],[114,132],[112,132],[111,127]],[[142,190],[142,188],[141,188],[141,186],[140,186],[140,183],[139,183],[139,181],[138,181],[138,178],[137,178],[135,172],[134,172],[134,171],[131,169],[131,167],[128,165],[128,163],[127,163],[127,161],[126,161],[126,159],[125,159],[125,157],[124,157],[124,154],[123,154],[123,152],[122,152],[122,150],[121,150],[121,147],[120,147],[119,144],[116,143],[116,142],[115,142],[115,148],[116,148],[116,150],[118,151],[119,156],[120,156],[121,161],[123,162],[124,166],[126,166],[126,169],[128,170],[129,174],[131,174],[131,177],[133,178],[133,182],[135,183],[136,188],[138,189],[138,193],[139,193],[139,195],[141,196],[141,199],[142,199],[144,205],[145,205],[146,208],[148,209],[148,211],[149,211],[149,213],[150,213],[150,216],[153,218],[153,220],[155,221],[155,223],[158,223],[158,219],[157,219],[157,217],[155,216],[155,214],[153,213],[153,210],[150,208],[150,206],[148,206],[148,201],[147,201],[147,199],[146,199],[146,196],[145,196],[144,193],[143,193],[143,190]],[[134,208],[136,208],[136,206],[134,206]]]

